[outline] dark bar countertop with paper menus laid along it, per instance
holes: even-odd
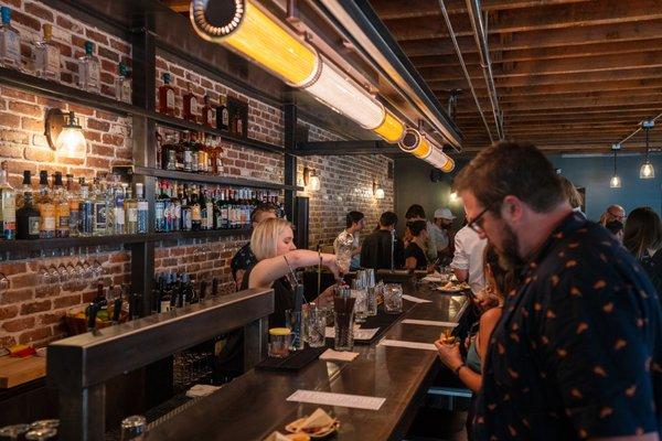
[[[296,374],[252,369],[216,392],[150,426],[158,440],[263,440],[322,407],[340,420],[338,440],[388,440],[404,435],[440,363],[434,351],[377,346],[383,338],[433,343],[444,327],[403,324],[404,319],[459,322],[462,295],[405,286],[431,303],[404,301],[406,313],[371,345],[354,345],[350,363],[316,359]],[[329,342],[329,340],[328,340]],[[286,401],[298,389],[386,398],[380,410]]]

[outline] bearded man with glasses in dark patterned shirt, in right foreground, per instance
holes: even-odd
[[[522,268],[483,364],[476,439],[659,440],[662,323],[645,271],[573,213],[533,146],[483,150],[453,186],[500,263]]]

